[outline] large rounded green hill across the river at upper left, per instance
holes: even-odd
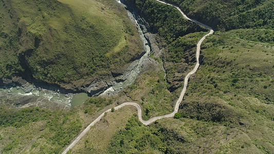
[[[113,1],[1,3],[1,78],[25,71],[37,80],[69,83],[121,69],[141,52],[138,34]]]

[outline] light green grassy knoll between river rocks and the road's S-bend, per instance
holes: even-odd
[[[136,81],[125,88],[124,93],[130,101],[141,104],[143,119],[148,120],[152,116],[172,112],[173,106],[170,102],[175,96],[168,91],[168,86],[165,72],[161,70],[161,64],[158,64],[157,68],[150,68],[140,73]],[[123,95],[119,97],[122,98]]]

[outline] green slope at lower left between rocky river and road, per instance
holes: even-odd
[[[0,100],[0,152],[60,153],[109,104],[112,99],[91,98],[73,109],[51,102],[18,108]]]

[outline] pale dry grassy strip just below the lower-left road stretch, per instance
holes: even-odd
[[[111,138],[125,127],[133,112],[136,108],[132,106],[108,112],[68,153],[105,153]]]

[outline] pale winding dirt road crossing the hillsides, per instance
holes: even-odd
[[[121,105],[118,105],[118,106],[114,107],[115,110],[117,110],[117,109],[119,109],[119,108],[121,108],[121,107],[124,107],[124,106],[126,106],[126,105],[135,106],[135,107],[137,108],[137,110],[138,110],[138,118],[139,118],[139,120],[140,120],[144,125],[146,125],[146,126],[149,125],[149,124],[151,124],[151,123],[153,123],[153,122],[155,122],[156,120],[159,120],[159,119],[162,119],[162,118],[171,118],[171,117],[174,117],[175,113],[178,112],[179,105],[180,105],[182,99],[184,98],[184,95],[185,95],[186,90],[187,90],[188,80],[189,80],[189,78],[190,78],[190,75],[194,74],[194,73],[197,71],[198,67],[199,67],[200,45],[202,44],[202,42],[205,40],[205,38],[206,38],[208,35],[211,35],[211,34],[213,34],[213,32],[214,32],[213,29],[212,29],[211,27],[209,27],[209,26],[207,26],[207,25],[205,25],[205,24],[202,24],[202,23],[200,23],[200,22],[198,22],[198,21],[195,21],[195,20],[193,20],[193,19],[187,17],[186,14],[185,14],[184,12],[182,12],[181,9],[180,9],[178,6],[173,5],[173,4],[170,4],[170,3],[162,2],[162,1],[159,1],[159,0],[155,0],[155,1],[160,2],[160,3],[163,3],[163,4],[166,4],[166,5],[170,5],[170,6],[175,7],[177,10],[180,11],[180,13],[184,16],[185,19],[190,20],[190,21],[192,21],[192,22],[195,22],[195,23],[197,23],[197,24],[199,24],[199,25],[202,25],[202,26],[204,26],[204,27],[206,27],[206,28],[209,28],[209,29],[210,29],[210,32],[209,32],[208,34],[206,34],[205,36],[203,36],[203,38],[201,38],[200,41],[199,41],[198,44],[197,44],[197,50],[196,50],[196,65],[195,65],[195,67],[193,68],[193,70],[191,70],[191,71],[186,75],[185,83],[184,83],[184,88],[182,89],[182,91],[181,91],[181,93],[180,93],[180,97],[179,97],[179,99],[177,100],[177,102],[176,102],[176,104],[175,104],[175,107],[174,107],[174,111],[173,111],[172,113],[167,114],[167,115],[162,115],[162,116],[159,116],[159,117],[154,117],[154,118],[151,118],[151,119],[148,120],[148,121],[144,121],[144,120],[142,119],[142,109],[141,109],[140,105],[137,104],[137,103],[134,103],[134,102],[126,102],[126,103],[123,103],[123,104],[121,104]],[[80,139],[89,131],[90,127],[91,127],[91,126],[94,126],[94,125],[95,125],[95,124],[104,116],[104,114],[105,114],[106,112],[109,112],[109,111],[111,111],[111,109],[108,109],[108,110],[104,111],[104,112],[103,112],[95,121],[93,121],[92,123],[90,123],[90,124],[89,124],[89,125],[88,125],[80,134],[79,134],[79,136],[77,137],[77,139],[74,140],[74,141],[73,141],[73,142],[72,142],[72,143],[71,143],[71,144],[62,152],[62,154],[65,154],[69,149],[71,149],[72,147],[74,147],[74,146],[79,142],[79,140],[80,140]]]

